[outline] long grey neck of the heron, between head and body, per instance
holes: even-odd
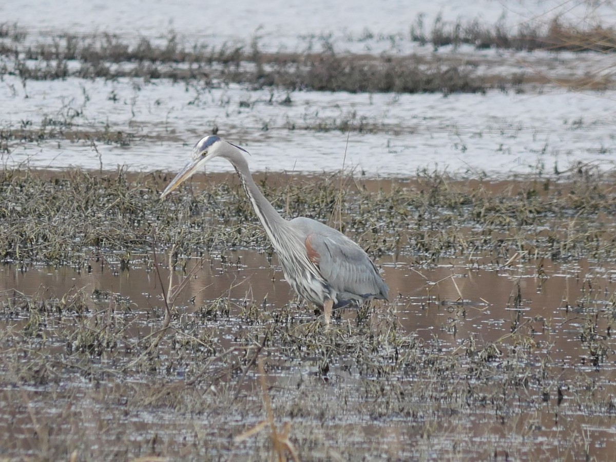
[[[274,209],[274,205],[270,204],[270,202],[265,199],[263,193],[261,193],[261,189],[253,180],[253,176],[248,169],[248,162],[241,154],[241,159],[235,157],[231,162],[235,171],[237,172],[238,177],[240,177],[241,185],[246,191],[246,196],[250,200],[250,203],[253,204],[254,213],[256,213],[259,221],[261,221],[261,225],[265,229],[265,233],[274,244],[275,248],[279,248],[280,244],[278,243],[277,233],[274,232],[274,229],[277,231],[282,231],[283,229],[288,229],[289,222],[280,216],[280,213],[276,209]]]

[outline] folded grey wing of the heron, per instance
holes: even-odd
[[[387,285],[367,253],[344,234],[326,228],[308,234],[306,250],[328,284],[339,293],[386,299]]]

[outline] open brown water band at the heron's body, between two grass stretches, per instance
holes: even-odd
[[[616,290],[616,267],[596,266],[588,261],[573,265],[543,262],[539,275],[532,265],[497,265],[485,269],[480,258],[471,261],[452,258],[425,268],[416,268],[412,259],[401,258],[394,263],[391,258],[383,257],[376,264],[389,285],[391,304],[395,306],[400,327],[405,333],[416,333],[426,339],[437,335],[451,348],[456,346],[456,336],[466,338],[471,333],[482,343],[498,340],[508,332],[519,312],[526,318],[537,318],[537,322],[566,323],[574,333],[583,318],[575,316],[573,306],[582,298],[585,284],[593,281],[606,293]],[[187,272],[191,269],[189,265]],[[163,281],[167,281],[168,272],[161,269],[161,274]],[[182,274],[176,271],[176,283],[183,279]],[[157,277],[151,268],[140,266],[138,258],[124,271],[118,262],[91,261],[89,273],[66,266],[5,265],[0,267],[0,291],[5,296],[15,290],[26,295],[42,291],[47,297],[62,297],[71,290],[83,288],[89,293],[105,290],[147,311],[148,307],[161,303]],[[518,285],[522,302],[516,309],[513,298]],[[293,300],[294,293],[286,284],[275,257],[270,262],[267,255],[254,250],[234,250],[225,252],[224,256],[206,253],[198,263],[197,274],[190,278],[176,303],[190,313],[195,306],[211,303],[221,296],[236,303],[238,309],[246,300],[259,303],[266,300],[267,306],[275,309]],[[312,316],[310,309],[303,305],[298,307],[298,313]],[[355,313],[352,308],[341,311],[344,319],[352,319]],[[600,330],[605,328],[606,325],[599,326]],[[542,336],[549,336],[549,330],[548,324],[537,329],[538,341]],[[557,346],[557,357],[562,355],[562,360],[575,363],[583,356],[578,346],[572,344],[574,338],[552,340]]]

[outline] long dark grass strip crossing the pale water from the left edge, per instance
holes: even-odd
[[[145,81],[200,79],[252,87],[349,92],[450,93],[485,89],[480,79],[472,76],[472,66],[415,56],[344,56],[333,49],[322,54],[263,54],[256,44],[252,50],[186,47],[176,36],[169,37],[163,46],[145,38],[129,46],[110,34],[94,39],[68,35],[27,49],[11,44],[0,50],[0,55],[6,57],[0,73],[17,75],[22,81],[139,77]]]

